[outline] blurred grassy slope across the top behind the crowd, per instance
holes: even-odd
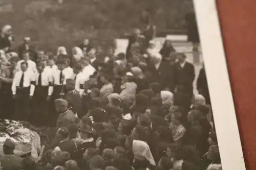
[[[84,38],[108,46],[123,32],[138,25],[138,16],[150,9],[158,30],[182,29],[190,0],[2,0],[0,25],[10,24],[17,46],[30,36],[35,46],[54,52],[59,45],[71,48]],[[7,6],[6,6],[7,5]]]

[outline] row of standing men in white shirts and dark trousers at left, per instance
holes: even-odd
[[[94,57],[91,59],[95,60]],[[74,68],[66,58],[59,58],[56,64],[54,58],[36,64],[30,60],[29,52],[23,54],[23,60],[13,57],[10,61],[12,66],[4,69],[9,70],[9,75],[0,77],[2,118],[26,120],[37,125],[45,125],[49,120],[49,126],[54,126],[58,116],[54,100],[63,97],[61,93],[66,92],[67,82],[74,84],[82,94],[84,82],[96,71],[88,58],[81,59]]]

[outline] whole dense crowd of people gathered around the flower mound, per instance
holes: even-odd
[[[210,99],[204,68],[170,40],[154,46],[154,25],[129,36],[126,53],[114,55],[89,40],[68,54],[34,50],[24,38],[17,53],[11,27],[0,39],[1,118],[56,127],[45,156],[15,156],[6,140],[6,169],[220,170],[214,126],[206,118]],[[146,34],[143,34],[146,33]],[[153,33],[152,36],[150,36]],[[99,57],[101,56],[101,57]],[[197,81],[199,94],[194,93]],[[11,161],[10,161],[11,160]]]

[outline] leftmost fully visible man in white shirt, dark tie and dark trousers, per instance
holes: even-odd
[[[20,71],[14,75],[12,82],[12,94],[15,100],[15,114],[18,120],[30,118],[30,100],[34,95],[35,77],[34,72],[28,69],[28,63],[20,63]]]

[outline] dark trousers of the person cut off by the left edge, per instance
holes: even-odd
[[[14,100],[12,98],[11,83],[2,83],[0,90],[0,118],[13,119],[14,118]]]

